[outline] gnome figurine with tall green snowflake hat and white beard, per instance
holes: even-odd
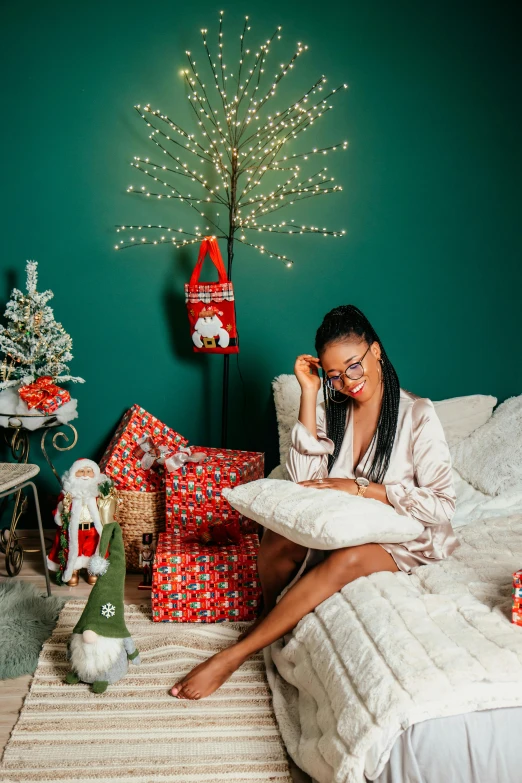
[[[100,553],[106,553],[107,548],[109,559],[100,555],[91,558],[89,573],[96,574],[98,581],[74,627],[67,650],[71,671],[65,682],[92,684],[94,693],[103,693],[108,685],[124,677],[129,661],[135,666],[141,663],[123,616],[125,550],[117,522],[103,528]]]

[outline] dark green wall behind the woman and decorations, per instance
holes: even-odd
[[[294,258],[291,270],[237,248],[245,389],[233,358],[230,445],[264,450],[275,464],[270,381],[313,350],[322,315],[347,302],[374,323],[405,388],[434,399],[519,394],[518,4],[11,0],[0,299],[14,280],[23,285],[27,258],[39,261],[41,288],[54,290],[73,336],[72,370],[87,380],[73,390],[75,456],[99,457],[134,402],[192,443],[219,444],[222,360],[192,353],[183,303],[195,249],[116,253],[113,226],[159,218],[159,205],[126,193],[141,184],[129,161],[152,149],[132,107],[150,101],[190,123],[184,52],[202,62],[199,30],[216,30],[221,7],[228,63],[244,14],[254,41],[283,26],[274,70],[296,41],[309,45],[288,101],[322,73],[350,86],[314,128],[320,142],[349,140],[328,158],[344,191],[294,213],[345,228],[346,238],[281,237],[270,246]],[[193,224],[183,207],[173,214],[174,224]],[[60,456],[60,471],[70,461]],[[48,470],[41,487],[50,502]]]

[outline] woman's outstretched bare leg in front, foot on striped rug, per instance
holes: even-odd
[[[291,631],[305,614],[344,585],[377,571],[397,570],[392,556],[378,544],[334,550],[285,593],[251,634],[192,669],[174,685],[172,695],[181,699],[209,696],[247,658]]]

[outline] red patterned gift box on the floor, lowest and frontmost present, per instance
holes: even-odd
[[[178,533],[162,533],[152,576],[154,622],[253,620],[261,598],[258,549],[255,533],[226,546],[204,546]]]

